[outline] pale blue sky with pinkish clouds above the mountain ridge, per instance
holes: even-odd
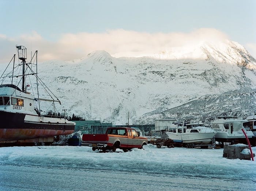
[[[255,0],[0,0],[0,63],[15,45],[39,60],[92,51],[143,56],[207,40],[238,42],[256,58]]]

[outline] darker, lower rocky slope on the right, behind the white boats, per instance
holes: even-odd
[[[215,95],[204,95],[200,98],[165,110],[152,111],[139,118],[140,123],[153,119],[179,119],[190,122],[203,122],[210,125],[218,116],[245,118],[256,113],[256,89],[244,87]]]

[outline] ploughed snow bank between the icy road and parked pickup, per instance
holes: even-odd
[[[253,147],[253,153],[256,147]],[[93,152],[90,147],[2,147],[0,164],[118,170],[150,174],[200,176],[256,181],[256,163],[222,157],[223,149],[156,148],[131,152]]]

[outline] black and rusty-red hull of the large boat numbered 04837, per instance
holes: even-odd
[[[45,117],[44,120],[41,120],[39,116],[4,111],[0,111],[0,120],[0,141],[69,135],[74,132],[75,128],[75,124],[72,122],[54,123],[51,122],[51,118]]]

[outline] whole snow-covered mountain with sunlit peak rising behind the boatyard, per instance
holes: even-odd
[[[140,58],[94,51],[75,61],[39,63],[38,73],[59,97],[60,112],[64,106],[86,120],[123,125],[129,112],[130,124],[180,117],[209,122],[223,112],[256,110],[256,61],[231,41]]]

